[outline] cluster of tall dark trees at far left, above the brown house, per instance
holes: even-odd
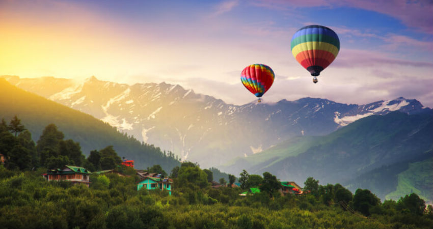
[[[5,157],[8,169],[35,170],[62,168],[65,165],[83,166],[91,171],[113,169],[122,162],[113,146],[93,150],[86,158],[79,142],[64,139],[63,132],[55,124],[47,125],[38,141],[15,116],[9,124],[0,124],[0,153]]]

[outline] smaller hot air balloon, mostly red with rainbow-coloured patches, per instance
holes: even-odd
[[[261,102],[260,97],[272,86],[274,78],[274,71],[269,66],[262,64],[247,66],[240,74],[240,81],[248,91],[259,98],[258,102]]]

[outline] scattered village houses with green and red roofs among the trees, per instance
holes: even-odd
[[[123,159],[121,165],[134,168],[134,160],[127,160]],[[168,191],[169,195],[172,194],[173,190],[173,179],[163,176],[163,174],[160,173],[149,173],[148,171],[141,170],[141,169],[135,169],[136,170],[136,176],[138,176],[139,181],[137,182],[137,191],[141,189],[146,190],[166,190]],[[122,174],[119,170],[116,169],[109,169],[109,170],[101,170],[101,171],[94,171],[93,173],[84,168],[79,166],[73,166],[73,165],[65,165],[63,168],[56,168],[56,169],[48,169],[45,174],[42,176],[47,181],[69,181],[73,184],[84,184],[87,187],[90,187],[91,180],[90,175],[91,174],[97,174],[97,175],[103,175],[103,174],[117,174],[118,176],[124,177],[127,175]],[[231,184],[220,184],[218,182],[212,181],[211,187],[212,188],[220,188],[220,187],[231,187],[231,188],[239,188],[241,185],[240,183],[233,183]],[[279,190],[280,194],[282,196],[285,196],[287,194],[305,194],[306,191],[303,191],[302,187],[297,185],[293,181],[280,181],[281,183],[281,189]],[[259,187],[249,188],[248,191],[242,192],[239,195],[240,196],[248,196],[253,195],[255,193],[260,193]]]

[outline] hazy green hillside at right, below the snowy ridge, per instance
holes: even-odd
[[[432,158],[432,117],[431,111],[418,115],[394,111],[384,116],[370,116],[326,136],[287,140],[262,153],[238,158],[222,169],[230,173],[239,173],[241,168],[254,173],[270,171],[296,182],[312,176],[324,183],[341,182],[352,191],[369,188],[382,199],[397,191],[398,195],[389,197],[395,199],[416,192],[432,201],[431,182],[418,182],[422,185],[414,186],[415,183],[397,179],[409,169],[410,163]],[[430,163],[418,170],[411,169],[407,176],[432,180],[433,166]]]

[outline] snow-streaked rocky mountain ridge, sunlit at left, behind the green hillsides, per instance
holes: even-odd
[[[404,98],[366,105],[303,98],[237,106],[165,82],[128,85],[93,76],[80,83],[52,77],[4,77],[17,87],[89,113],[203,167],[259,153],[293,136],[328,134],[367,116],[430,110]],[[47,90],[47,83],[56,90]]]

